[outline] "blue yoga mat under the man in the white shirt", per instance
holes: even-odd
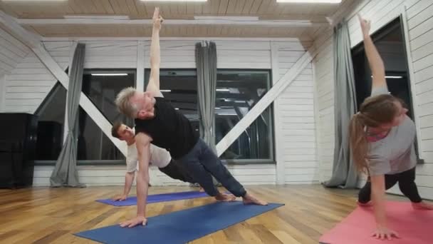
[[[160,203],[160,202],[168,202],[170,200],[183,200],[183,199],[191,199],[191,198],[205,198],[208,197],[207,193],[201,191],[184,191],[180,193],[164,193],[164,194],[156,194],[156,195],[148,195],[147,203]],[[108,205],[113,206],[130,206],[137,205],[137,197],[126,198],[126,200],[111,200],[111,199],[100,199],[96,200],[100,203],[106,203]]]

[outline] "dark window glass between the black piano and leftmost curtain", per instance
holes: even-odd
[[[66,88],[56,83],[36,111],[39,116],[36,160],[57,160],[63,146],[65,108]]]

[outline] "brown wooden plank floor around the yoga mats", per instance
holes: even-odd
[[[197,190],[197,188],[194,188]],[[135,206],[115,208],[95,202],[120,193],[121,187],[30,188],[0,190],[0,243],[95,243],[73,235],[120,223],[135,216]],[[191,190],[151,187],[150,194]],[[355,208],[356,190],[321,185],[251,185],[251,193],[281,208],[251,218],[192,243],[318,243]],[[132,189],[135,193],[135,189]],[[393,199],[404,199],[388,196]],[[147,215],[160,215],[214,202],[213,198],[153,203]]]

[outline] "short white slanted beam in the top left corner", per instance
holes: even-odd
[[[16,39],[21,41],[23,44],[33,49],[41,44],[41,36],[33,34],[20,26],[16,18],[6,14],[4,11],[0,10],[0,24],[1,26],[9,32]]]

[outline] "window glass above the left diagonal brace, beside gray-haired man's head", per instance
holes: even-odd
[[[83,75],[82,91],[111,123],[122,121],[132,126],[132,119],[118,112],[115,96],[128,86],[135,86],[135,71],[87,70]]]

